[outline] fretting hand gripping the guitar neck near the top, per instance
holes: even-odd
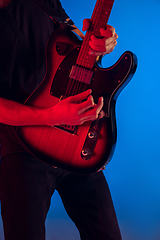
[[[83,20],[83,31],[86,31],[90,26],[90,19]],[[91,50],[89,52],[90,55],[100,56],[111,53],[115,46],[117,45],[118,35],[115,32],[114,27],[107,25],[106,29],[101,28],[100,33],[102,38],[97,38],[95,36],[91,36],[89,45]]]

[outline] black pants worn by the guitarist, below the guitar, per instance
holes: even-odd
[[[1,212],[5,240],[45,239],[45,219],[55,189],[81,239],[121,240],[102,171],[77,175],[54,169],[24,153],[2,158]]]

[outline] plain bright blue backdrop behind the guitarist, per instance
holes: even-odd
[[[95,0],[66,1],[63,7],[81,29]],[[109,24],[119,35],[105,67],[130,50],[138,57],[134,78],[116,104],[118,139],[104,171],[111,189],[123,240],[160,239],[160,1],[115,0]],[[2,225],[2,224],[1,224]],[[47,240],[79,240],[57,193],[48,214]],[[0,239],[3,239],[2,230]]]

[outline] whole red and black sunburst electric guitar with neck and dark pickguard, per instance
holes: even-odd
[[[106,116],[80,126],[16,127],[16,134],[42,161],[75,173],[92,173],[110,160],[116,144],[115,103],[136,70],[136,56],[125,52],[109,68],[89,55],[92,34],[100,37],[114,0],[97,0],[83,43],[68,28],[58,28],[47,45],[47,70],[41,85],[24,104],[48,108],[68,97],[92,89],[95,102],[104,98]],[[63,100],[62,100],[63,101]]]

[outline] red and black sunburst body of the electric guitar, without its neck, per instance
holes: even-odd
[[[41,85],[27,99],[25,104],[48,108],[58,103],[65,95],[70,81],[70,72],[75,64],[81,41],[66,29],[59,28],[51,36],[47,47],[47,70]],[[90,158],[82,158],[82,149],[90,132],[91,122],[77,126],[76,133],[48,126],[17,127],[16,132],[24,144],[40,160],[76,173],[92,173],[107,164],[116,143],[115,102],[136,69],[136,59],[131,52],[125,52],[112,67],[103,69],[95,63],[90,84],[95,102],[104,97],[106,117],[103,118],[98,136],[87,140],[87,149],[92,148]],[[84,89],[81,84],[82,91]],[[93,127],[95,128],[95,127]],[[93,129],[92,129],[93,130]]]

